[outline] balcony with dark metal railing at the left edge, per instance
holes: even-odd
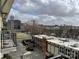
[[[16,34],[11,31],[3,31],[1,34],[1,48],[12,48],[16,47]]]

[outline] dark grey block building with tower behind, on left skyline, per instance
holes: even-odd
[[[14,20],[14,17],[11,16],[10,20],[8,20],[8,22],[7,22],[7,26],[8,26],[9,30],[20,31],[21,21],[20,20]]]

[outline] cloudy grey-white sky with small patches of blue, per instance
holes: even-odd
[[[15,0],[9,15],[45,25],[79,25],[79,0]]]

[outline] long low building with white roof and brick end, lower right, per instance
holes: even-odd
[[[43,40],[43,37],[46,38],[47,43],[43,43],[42,45],[42,43],[40,43],[41,42],[40,40]],[[64,56],[63,59],[79,59],[79,41],[68,38],[59,38],[46,35],[35,35],[33,39],[36,42],[36,45],[38,46],[45,45],[42,48],[46,49],[46,51],[43,52],[49,53],[53,55],[53,57],[60,55]]]

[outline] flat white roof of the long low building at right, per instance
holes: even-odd
[[[79,51],[79,41],[78,40],[74,40],[74,39],[70,39],[70,38],[60,38],[60,37],[55,37],[55,36],[47,36],[47,35],[35,35],[35,37],[38,37],[38,38],[45,37],[48,42],[55,43],[57,45]]]

